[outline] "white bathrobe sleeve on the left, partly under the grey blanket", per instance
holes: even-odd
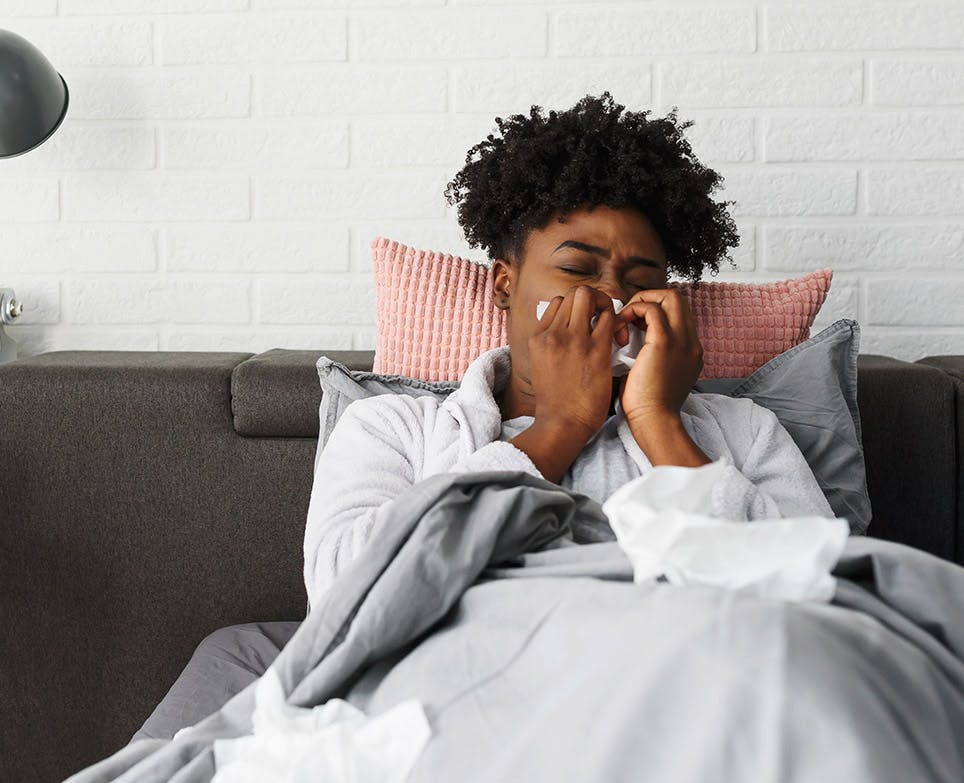
[[[509,443],[471,448],[458,425],[440,417],[432,397],[353,402],[315,460],[304,540],[309,606],[365,547],[378,510],[431,475],[427,463],[436,473],[524,470],[541,477]]]

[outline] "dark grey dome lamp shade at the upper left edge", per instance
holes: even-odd
[[[25,38],[0,30],[0,158],[45,142],[67,114],[67,83]]]

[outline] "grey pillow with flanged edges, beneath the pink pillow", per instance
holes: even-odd
[[[809,340],[771,359],[748,378],[699,381],[695,393],[747,397],[773,411],[797,444],[827,502],[850,530],[870,524],[870,496],[857,409],[860,326],[842,318]],[[355,400],[376,394],[432,394],[444,399],[456,381],[420,381],[402,375],[349,370],[327,356],[318,359],[322,399],[318,451],[338,418]]]

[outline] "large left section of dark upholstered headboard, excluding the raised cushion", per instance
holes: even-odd
[[[232,373],[251,356],[59,351],[0,365],[10,780],[62,780],[116,751],[212,631],[304,616],[317,439],[238,435]]]

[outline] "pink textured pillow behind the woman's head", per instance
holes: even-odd
[[[378,334],[373,370],[459,380],[479,354],[506,345],[484,264],[372,240]],[[670,283],[689,299],[703,344],[701,380],[745,378],[810,337],[833,271],[776,283]]]

